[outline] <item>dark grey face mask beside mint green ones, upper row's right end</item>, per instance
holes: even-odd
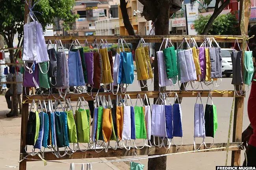
[[[243,85],[243,78],[242,78],[242,51],[232,51],[231,52],[231,59],[233,65],[233,77],[231,84]]]

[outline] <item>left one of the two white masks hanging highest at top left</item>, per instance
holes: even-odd
[[[30,23],[30,18],[31,15],[28,16],[28,21],[24,25],[22,61],[34,62],[37,60],[37,29],[35,22]]]

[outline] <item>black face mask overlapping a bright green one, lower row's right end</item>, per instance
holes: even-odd
[[[206,137],[214,137],[213,130],[213,106],[206,104],[204,113],[205,135]]]

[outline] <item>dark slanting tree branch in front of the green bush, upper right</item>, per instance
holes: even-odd
[[[207,22],[206,26],[204,27],[204,31],[202,32],[202,35],[207,35],[208,32],[211,29],[211,26],[213,24],[213,21],[217,18],[217,16],[223,11],[223,9],[225,9],[226,6],[228,6],[228,4],[230,3],[230,0],[226,0],[219,8],[219,0],[216,0],[216,4],[215,4],[215,9],[213,14],[211,15],[211,18],[209,19],[209,21]],[[217,7],[216,7],[217,6]],[[217,9],[217,10],[216,10]]]

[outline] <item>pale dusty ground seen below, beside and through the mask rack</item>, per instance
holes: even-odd
[[[233,90],[234,87],[230,84],[231,79],[223,79],[221,86],[218,90]],[[199,88],[200,89],[200,88]],[[206,88],[204,88],[206,89]],[[153,85],[149,87],[149,90],[153,90]],[[178,86],[176,86],[178,90]],[[247,89],[246,89],[247,90]],[[128,91],[140,91],[137,82],[134,82],[128,87]],[[244,105],[244,118],[243,118],[243,130],[248,126],[249,119],[247,115],[247,100],[245,98]],[[205,105],[207,98],[202,98]],[[173,99],[171,99],[171,102]],[[133,99],[135,103],[135,100]],[[152,99],[150,99],[152,104]],[[215,135],[215,143],[221,143],[227,141],[228,125],[230,117],[230,109],[232,106],[232,98],[213,98],[213,103],[217,107],[218,113],[218,130]],[[189,97],[182,100],[182,128],[183,128],[183,144],[193,144],[193,128],[194,128],[194,104],[195,98]],[[76,102],[72,103],[72,106],[76,106]],[[6,118],[5,114],[8,113],[6,99],[4,96],[0,96],[0,170],[12,170],[19,167],[19,150],[20,150],[20,122],[21,116],[15,118]],[[232,139],[232,136],[231,136]],[[201,139],[197,140],[197,143]],[[206,139],[206,142],[211,142],[211,139]],[[102,151],[104,152],[104,151]],[[241,162],[244,160],[243,151],[241,151]],[[100,158],[100,159],[74,159],[65,160],[67,163],[88,163],[98,162],[104,160],[121,159],[116,158]],[[180,154],[170,155],[167,157],[167,170],[215,170],[215,166],[223,166],[226,159],[226,152],[204,152],[204,153],[192,153],[192,154]],[[231,159],[231,152],[229,154],[229,165]],[[141,160],[141,163],[145,165],[144,169],[147,169],[147,159]],[[27,163],[27,170],[68,170],[69,164],[64,163],[48,163],[47,166],[43,165],[43,162],[29,162]],[[161,166],[161,165],[158,165]],[[80,169],[81,165],[76,165],[76,169]],[[93,164],[93,169],[105,170],[128,170],[130,168],[130,162],[117,162],[117,163],[98,163]]]

